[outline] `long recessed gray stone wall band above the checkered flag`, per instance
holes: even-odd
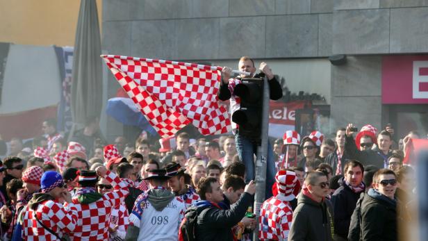
[[[104,0],[103,49],[172,60],[331,55],[333,0]]]

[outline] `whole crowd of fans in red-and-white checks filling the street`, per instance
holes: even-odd
[[[239,66],[256,70],[248,57]],[[274,88],[268,65],[260,69]],[[223,70],[223,99],[236,98],[230,71]],[[231,103],[238,108],[238,99]],[[400,146],[391,126],[354,127],[338,128],[334,140],[286,131],[269,145],[267,191],[256,210],[257,143],[238,126],[210,140],[181,132],[155,149],[147,135],[106,143],[97,118],[67,141],[47,119],[43,137],[30,147],[13,138],[0,163],[1,238],[252,240],[255,232],[259,240],[397,240],[415,202],[403,149],[418,133]]]

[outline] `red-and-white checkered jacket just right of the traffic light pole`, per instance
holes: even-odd
[[[259,240],[286,240],[291,228],[293,209],[290,203],[281,200],[281,194],[263,202],[258,217]]]

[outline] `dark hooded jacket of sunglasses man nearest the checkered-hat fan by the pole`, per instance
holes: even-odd
[[[333,240],[333,212],[328,200],[320,203],[311,199],[302,190],[293,213],[288,240],[331,241]]]

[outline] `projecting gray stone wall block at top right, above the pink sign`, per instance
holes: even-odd
[[[428,51],[428,1],[335,0],[333,53]]]

